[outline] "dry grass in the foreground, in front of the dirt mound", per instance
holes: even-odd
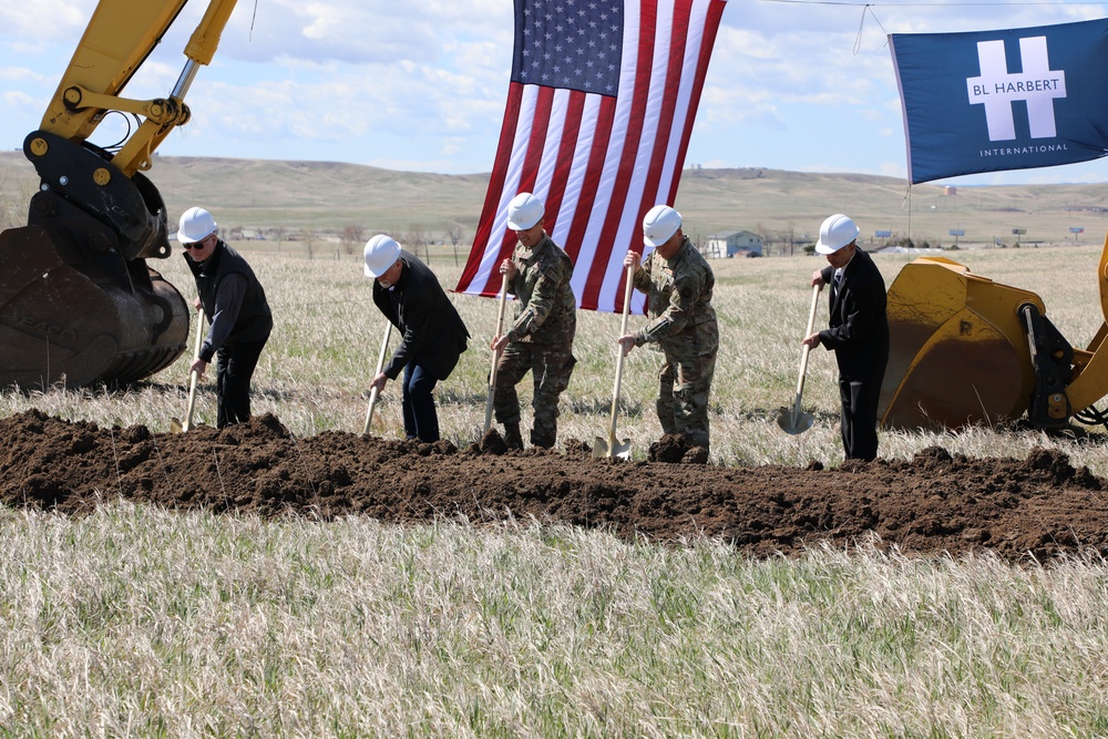
[[[0,736],[1108,732],[1102,562],[129,504],[0,525]]]

